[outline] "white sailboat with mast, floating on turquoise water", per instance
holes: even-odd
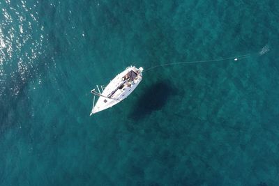
[[[99,88],[96,85],[97,91],[96,89],[91,90],[94,96],[90,116],[108,109],[127,98],[142,81],[143,70],[142,67],[135,68],[135,66],[129,66],[119,75],[116,75],[107,86],[100,86]],[[95,104],[96,96],[99,98]]]

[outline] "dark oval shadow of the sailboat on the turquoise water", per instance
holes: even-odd
[[[170,82],[157,82],[145,88],[144,92],[140,94],[133,109],[128,114],[128,118],[139,120],[151,114],[153,111],[162,109],[169,96],[176,93],[176,88]]]

